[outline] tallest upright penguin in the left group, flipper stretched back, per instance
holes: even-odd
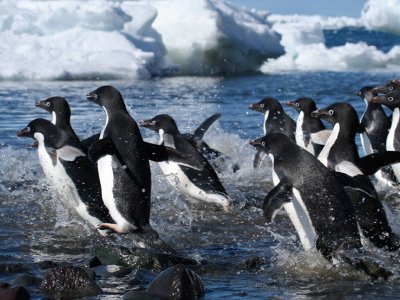
[[[131,233],[141,248],[175,253],[150,226],[151,173],[149,159],[171,160],[179,153],[159,145],[146,143],[139,126],[129,115],[121,93],[112,86],[101,86],[86,98],[102,107],[106,122],[100,139],[92,143],[88,153],[97,162],[102,198],[115,223],[100,224],[117,233]],[[185,160],[185,158],[182,158]],[[196,161],[188,165],[202,169]]]

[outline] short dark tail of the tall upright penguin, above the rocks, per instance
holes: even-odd
[[[133,243],[139,248],[153,250],[166,254],[177,254],[167,245],[150,225],[143,226],[140,230],[133,232]]]

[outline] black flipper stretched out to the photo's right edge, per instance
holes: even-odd
[[[373,153],[360,158],[358,166],[365,175],[373,175],[380,168],[400,163],[399,151],[385,151]]]

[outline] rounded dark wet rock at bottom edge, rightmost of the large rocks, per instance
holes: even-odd
[[[166,269],[150,284],[147,293],[165,299],[197,299],[204,294],[200,276],[185,265]]]

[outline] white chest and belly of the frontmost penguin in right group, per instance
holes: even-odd
[[[272,161],[272,181],[274,185],[278,185],[279,177],[274,170],[274,156],[268,155]],[[292,201],[285,203],[283,208],[289,216],[297,234],[299,235],[300,242],[305,250],[315,247],[316,234],[314,226],[311,223],[310,216],[301,198],[299,191],[293,188],[294,198]]]

